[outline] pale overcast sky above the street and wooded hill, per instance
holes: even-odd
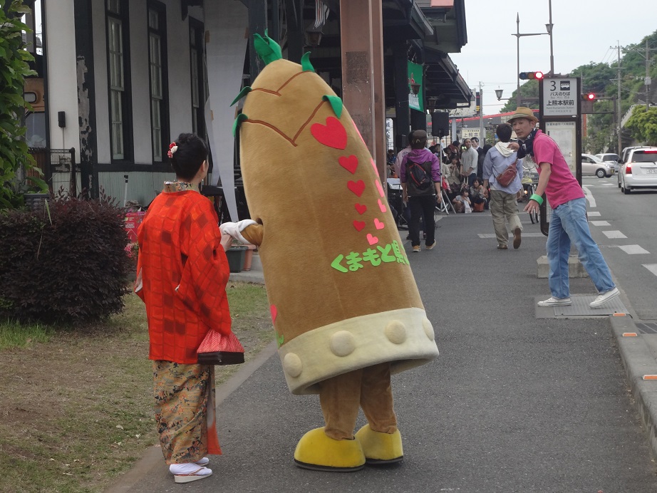
[[[655,0],[552,0],[554,72],[567,74],[590,62],[616,61],[616,46],[641,43],[657,31],[656,14]],[[482,84],[486,115],[499,113],[507,103],[497,101],[495,89],[504,90],[502,98],[509,98],[517,88],[517,42],[512,36],[517,15],[521,34],[545,33],[519,38],[520,71],[549,72],[549,0],[465,0],[467,44],[450,58],[470,88]]]

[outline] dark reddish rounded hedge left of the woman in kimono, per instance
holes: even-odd
[[[132,266],[124,211],[108,199],[0,213],[0,317],[78,325],[123,308]]]

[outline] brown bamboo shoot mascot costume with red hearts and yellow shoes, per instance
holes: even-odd
[[[433,326],[376,165],[342,100],[308,60],[281,58],[255,35],[267,66],[244,88],[235,121],[249,211],[222,231],[259,246],[289,390],[319,393],[326,426],[294,460],[352,471],[403,459],[390,373],[438,356]],[[358,407],[368,424],[353,435]]]

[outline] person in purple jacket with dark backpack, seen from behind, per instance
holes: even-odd
[[[435,246],[435,219],[433,213],[437,202],[442,202],[440,192],[440,162],[428,149],[427,133],[413,130],[410,133],[410,152],[403,157],[400,166],[400,182],[403,200],[408,202],[410,223],[408,233],[413,251],[420,251],[420,217],[423,218],[424,232],[427,235],[425,248]]]

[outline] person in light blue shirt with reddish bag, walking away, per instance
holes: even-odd
[[[495,130],[500,141],[492,147],[484,158],[484,188],[490,185],[490,216],[492,217],[497,249],[506,250],[509,247],[509,229],[513,232],[513,247],[518,249],[522,241],[522,223],[518,217],[518,195],[522,190],[522,162],[518,160],[517,152],[509,147],[511,140],[511,125],[502,123]],[[497,183],[497,177],[510,165],[515,165],[517,175],[509,185],[502,187]]]

